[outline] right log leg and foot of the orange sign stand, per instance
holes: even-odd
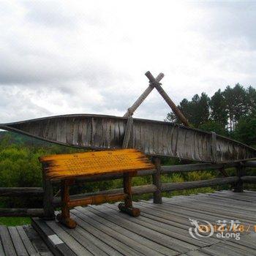
[[[138,217],[140,215],[140,209],[132,207],[132,173],[124,173],[123,183],[126,197],[124,203],[118,204],[118,208],[120,211],[132,217]]]

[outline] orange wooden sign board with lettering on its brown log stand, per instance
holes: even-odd
[[[69,208],[75,206],[124,200],[118,205],[120,211],[138,217],[140,209],[132,207],[132,176],[136,176],[138,170],[154,168],[148,158],[136,149],[59,154],[39,157],[39,161],[42,162],[45,178],[61,181],[61,214],[57,215],[57,219],[69,228],[77,225],[69,215]],[[75,178],[107,173],[123,173],[123,193],[70,200],[69,186],[75,183]]]

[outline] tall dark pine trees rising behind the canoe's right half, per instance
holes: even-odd
[[[252,86],[245,89],[237,83],[212,97],[195,94],[191,100],[182,99],[178,108],[192,127],[256,145],[256,90]],[[167,114],[166,121],[179,124],[173,113]]]

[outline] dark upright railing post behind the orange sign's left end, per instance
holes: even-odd
[[[44,190],[43,208],[44,219],[55,219],[53,207],[53,185],[45,178],[45,164],[42,166],[42,189]]]

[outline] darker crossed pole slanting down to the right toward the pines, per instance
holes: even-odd
[[[189,127],[189,122],[187,121],[187,118],[185,118],[185,116],[183,115],[183,113],[181,113],[181,110],[179,110],[177,108],[177,106],[175,105],[175,103],[170,99],[170,97],[168,96],[168,94],[165,92],[164,89],[162,89],[162,86],[159,82],[157,82],[157,80],[154,78],[154,76],[151,74],[151,72],[146,72],[146,77],[148,78],[148,80],[151,81],[151,83],[154,85],[154,87],[157,89],[157,91],[159,92],[159,94],[165,99],[165,102],[167,102],[167,105],[169,105],[169,107],[171,108],[171,110],[173,110],[173,112],[176,114],[176,116],[178,117],[178,119],[182,122],[182,124],[184,124],[186,127]]]

